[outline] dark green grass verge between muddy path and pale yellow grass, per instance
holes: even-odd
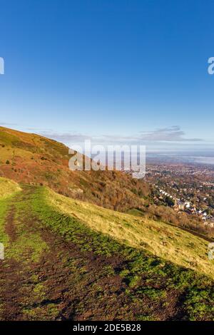
[[[69,203],[73,211],[73,202]],[[137,304],[158,304],[163,311],[172,304],[173,297],[179,297],[176,309],[181,311],[182,317],[178,317],[213,320],[214,285],[209,277],[177,266],[144,249],[128,247],[122,241],[118,242],[107,234],[92,230],[86,222],[54,206],[53,194],[50,197],[49,190],[43,187],[32,193],[31,205],[46,227],[60,234],[67,242],[77,244],[81,252],[123,259],[120,267],[101,267],[100,271],[108,270],[118,274],[126,284],[126,295],[131,301]],[[138,319],[151,318],[158,319],[158,315],[152,315],[151,309],[148,313],[146,308],[145,313],[138,316]]]

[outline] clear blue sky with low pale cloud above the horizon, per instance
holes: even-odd
[[[1,125],[65,143],[213,146],[213,0],[0,6]]]

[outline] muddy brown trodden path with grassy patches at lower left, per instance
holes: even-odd
[[[34,236],[41,237],[46,249],[39,261],[30,260],[34,252],[32,248],[24,249],[18,259],[6,257],[1,261],[0,320],[103,319],[107,305],[111,313],[106,318],[115,318],[121,304],[128,304],[125,295],[122,301],[116,299],[116,294],[125,292],[126,284],[117,274],[107,279],[103,273],[102,277],[100,270],[103,267],[119,268],[123,260],[81,252],[78,245],[64,242],[44,228],[30,207],[20,215],[16,204],[27,202],[29,195],[30,191],[26,189],[17,195],[16,202],[11,202],[5,225],[10,243],[8,250],[17,251],[21,247],[23,231],[29,241]],[[102,303],[96,300],[98,285],[105,287]],[[85,306],[81,309],[83,300]],[[129,312],[124,311],[123,318],[128,318]],[[122,315],[118,314],[118,317]]]

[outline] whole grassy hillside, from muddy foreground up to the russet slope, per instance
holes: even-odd
[[[145,182],[1,127],[0,153],[0,320],[213,320],[208,242],[153,220]]]

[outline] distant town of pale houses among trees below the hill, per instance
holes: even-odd
[[[214,227],[214,168],[182,164],[151,164],[146,181],[153,186],[153,200],[176,212],[197,215],[205,226]]]

